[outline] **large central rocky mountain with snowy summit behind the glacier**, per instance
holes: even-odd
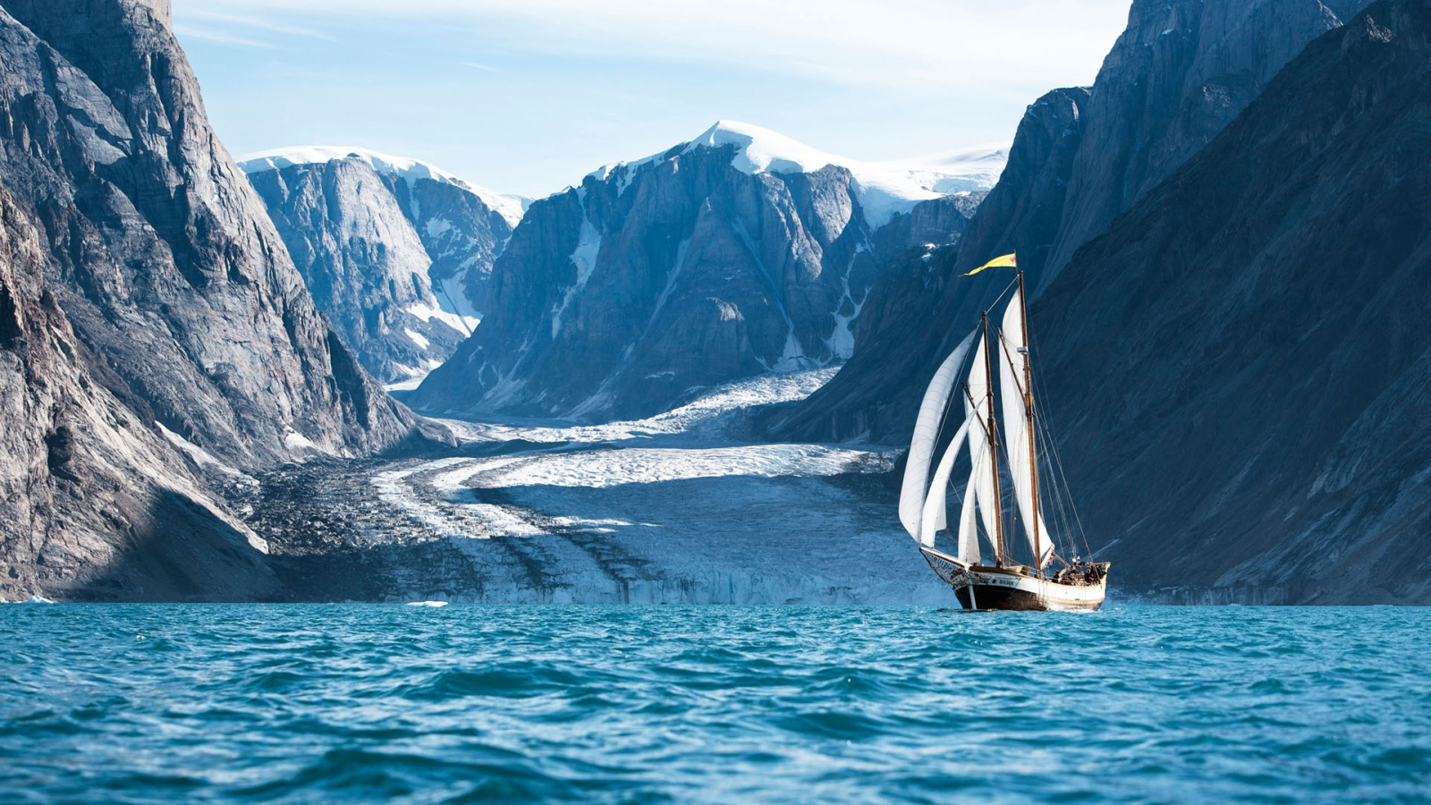
[[[861,163],[720,122],[602,168],[532,203],[497,261],[491,314],[411,401],[638,417],[843,361],[881,266],[957,239],[1003,153],[934,162]]]

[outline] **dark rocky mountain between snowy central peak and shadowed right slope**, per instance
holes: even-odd
[[[1005,288],[960,278],[1017,251],[1030,297],[1112,218],[1166,179],[1318,34],[1364,0],[1135,0],[1093,86],[1055,90],[1019,125],[1009,169],[954,248],[871,294],[854,357],[770,423],[780,438],[900,443],[942,357]]]

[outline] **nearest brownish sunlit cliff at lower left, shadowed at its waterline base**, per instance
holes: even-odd
[[[266,594],[263,541],[92,374],[46,252],[0,188],[0,600]]]

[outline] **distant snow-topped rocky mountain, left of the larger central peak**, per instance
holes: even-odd
[[[358,148],[239,159],[318,308],[379,380],[412,388],[472,334],[527,199]]]

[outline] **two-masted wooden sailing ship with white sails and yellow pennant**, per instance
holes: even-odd
[[[1013,266],[1013,255],[996,258],[970,274],[999,265]],[[1072,510],[1070,496],[1066,496],[1066,483],[1062,487],[1058,483],[1040,484],[1040,466],[1050,478],[1062,481],[1063,476],[1052,438],[1043,443],[1037,438],[1040,428],[1045,437],[1047,434],[1033,405],[1022,271],[1009,289],[1013,294],[1000,325],[990,331],[989,312],[985,311],[980,327],[944,358],[924,391],[900,490],[900,521],[919,541],[919,550],[934,573],[953,587],[964,609],[1096,610],[1103,603],[1109,563],[1076,556],[1065,559],[1050,534],[1050,526],[1056,523],[1062,529],[1055,527],[1053,531],[1062,531],[1060,541],[1072,546],[1078,514]],[[975,337],[979,342],[970,348]],[[963,382],[957,382],[960,377]],[[956,400],[959,405],[954,405]],[[939,463],[933,464],[944,424],[956,420],[952,411],[962,411],[957,420],[963,424]],[[969,478],[959,484],[963,488],[959,520],[949,527],[950,476],[966,447]],[[1006,461],[1000,461],[1000,453]],[[1007,514],[1005,486],[1013,493]],[[1059,493],[1063,494],[1062,503],[1068,504],[1066,510],[1043,504],[1043,498],[1059,501]],[[942,531],[947,531],[953,541],[950,550],[936,547]],[[1076,531],[1082,534],[1082,527],[1078,526]],[[993,549],[992,564],[982,557],[980,533],[987,547]],[[1017,544],[1020,534],[1027,543],[1027,561],[1016,559],[1023,554]]]

